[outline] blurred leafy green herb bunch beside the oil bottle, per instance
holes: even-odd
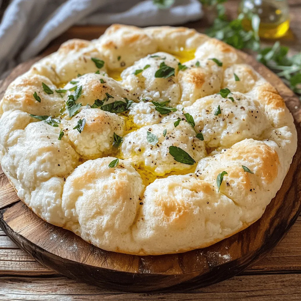
[[[252,24],[252,30],[246,31],[242,26],[245,17],[243,13],[235,20],[228,20],[222,4],[227,0],[199,1],[205,7],[210,6],[217,11],[218,17],[214,20],[213,26],[206,30],[208,36],[222,40],[237,49],[248,48],[258,52],[257,60],[277,73],[301,100],[301,52],[288,57],[289,48],[281,46],[278,41],[272,47],[260,48],[258,36],[260,18],[257,14],[249,13],[246,16]]]

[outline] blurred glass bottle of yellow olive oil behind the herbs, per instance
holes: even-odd
[[[287,0],[242,0],[238,8],[244,14],[242,25],[251,30],[251,14],[260,17],[259,36],[278,39],[290,28]]]

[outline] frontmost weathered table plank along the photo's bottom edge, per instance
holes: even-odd
[[[61,300],[170,300],[170,301],[290,301],[300,300],[301,274],[236,276],[192,292],[120,293],[99,289],[65,277],[3,277],[0,299]]]

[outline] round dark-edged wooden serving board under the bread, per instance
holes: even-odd
[[[274,85],[294,116],[298,147],[276,197],[253,225],[210,247],[180,254],[134,256],[101,250],[74,233],[48,224],[17,197],[0,173],[0,226],[23,250],[43,265],[68,277],[125,291],[175,290],[210,285],[230,278],[262,259],[281,240],[301,211],[301,110],[299,98],[274,73],[239,52]],[[26,72],[39,58],[16,67],[0,86]]]

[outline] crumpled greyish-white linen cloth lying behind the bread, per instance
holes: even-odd
[[[12,0],[0,24],[0,75],[74,24],[176,25],[200,19],[201,8],[198,0],[175,0],[168,9],[152,0]]]

